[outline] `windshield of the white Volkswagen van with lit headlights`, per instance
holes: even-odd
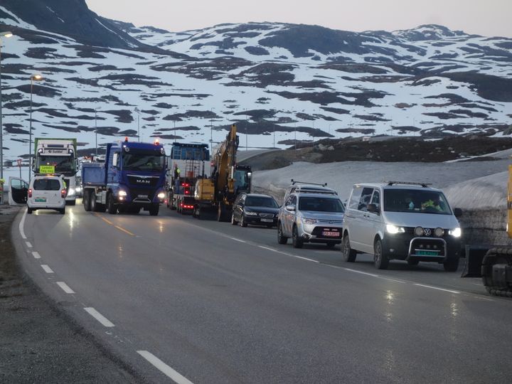
[[[441,192],[422,189],[385,189],[384,210],[388,212],[452,214],[452,210]]]

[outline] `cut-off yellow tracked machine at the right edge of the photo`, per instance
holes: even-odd
[[[512,165],[508,166],[506,231],[508,238],[512,238]],[[490,294],[512,297],[512,247],[488,250],[482,261],[481,277]]]

